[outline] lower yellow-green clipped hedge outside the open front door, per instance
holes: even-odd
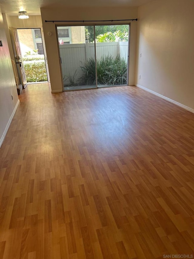
[[[24,62],[24,69],[28,83],[47,81],[45,62]]]

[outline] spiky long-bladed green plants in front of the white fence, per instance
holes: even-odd
[[[122,85],[127,83],[127,62],[124,58],[108,55],[102,56],[97,63],[97,82],[102,85]],[[79,78],[80,84],[94,85],[95,60],[90,58],[81,66],[82,76]]]

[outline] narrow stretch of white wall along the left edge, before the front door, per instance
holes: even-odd
[[[18,103],[14,73],[6,39],[3,18],[0,8],[0,146],[5,137],[10,118]],[[13,100],[12,100],[13,95]]]

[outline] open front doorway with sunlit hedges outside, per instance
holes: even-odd
[[[40,28],[17,29],[27,83],[48,82]]]

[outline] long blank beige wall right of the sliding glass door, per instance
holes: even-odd
[[[139,7],[135,76],[137,84],[192,109],[193,10],[193,0],[156,0]]]

